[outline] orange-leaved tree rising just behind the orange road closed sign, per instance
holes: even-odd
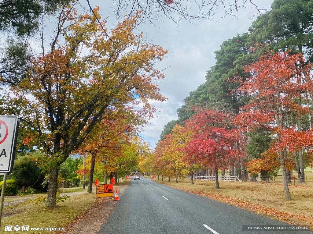
[[[138,101],[131,103],[139,104]],[[116,151],[121,148],[122,142],[128,142],[132,136],[140,132],[140,126],[151,119],[155,108],[138,107],[124,105],[124,108],[107,108],[102,115],[102,120],[97,124],[91,134],[85,139],[84,144],[78,150],[79,152],[88,151],[91,154],[91,165],[89,171],[88,193],[92,192],[93,173],[95,161],[100,160],[104,167],[104,183],[107,181],[106,163],[112,158],[108,158],[109,151]],[[117,153],[112,154],[117,156]],[[113,159],[112,159],[113,160]]]

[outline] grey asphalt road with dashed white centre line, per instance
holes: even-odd
[[[105,209],[105,207],[104,207]],[[125,189],[98,234],[312,234],[308,231],[243,231],[243,225],[288,225],[145,177]]]

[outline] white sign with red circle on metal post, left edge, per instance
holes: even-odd
[[[13,170],[19,122],[20,120],[17,116],[0,116],[0,175],[4,175],[0,200],[0,228],[5,185],[7,183],[7,175]]]

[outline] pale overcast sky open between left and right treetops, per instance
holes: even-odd
[[[230,0],[233,2],[233,0]],[[239,0],[240,1],[240,0]],[[239,2],[238,1],[238,2]],[[272,0],[252,0],[258,8],[270,9]],[[100,4],[99,2],[105,2]],[[100,6],[102,18],[107,18],[107,28],[116,25],[116,18],[112,10],[113,4],[110,1],[91,1],[91,6]],[[240,1],[242,2],[242,0]],[[82,3],[82,2],[81,2]],[[109,15],[110,14],[110,15]],[[237,33],[247,32],[256,19],[257,10],[239,9],[237,18],[225,16],[224,9],[217,7],[213,20],[205,19],[188,22],[181,20],[176,25],[171,20],[162,17],[164,21],[153,21],[156,26],[150,23],[141,23],[137,30],[142,31],[148,40],[154,44],[168,49],[168,57],[161,61],[158,69],[164,71],[165,78],[158,82],[160,92],[168,98],[167,101],[154,105],[161,110],[156,117],[151,119],[149,125],[144,129],[141,136],[150,142],[151,149],[160,138],[165,124],[178,118],[176,110],[184,104],[184,99],[189,92],[205,82],[206,71],[215,65],[214,51],[220,49],[223,41],[236,36]],[[223,18],[222,18],[223,17]]]

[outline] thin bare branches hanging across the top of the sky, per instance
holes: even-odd
[[[223,7],[225,15],[235,16],[239,8],[255,8],[259,14],[266,11],[254,4],[253,0],[113,0],[116,17],[128,17],[141,10],[141,21],[160,20],[166,16],[175,23],[181,19],[213,19],[215,10]]]

